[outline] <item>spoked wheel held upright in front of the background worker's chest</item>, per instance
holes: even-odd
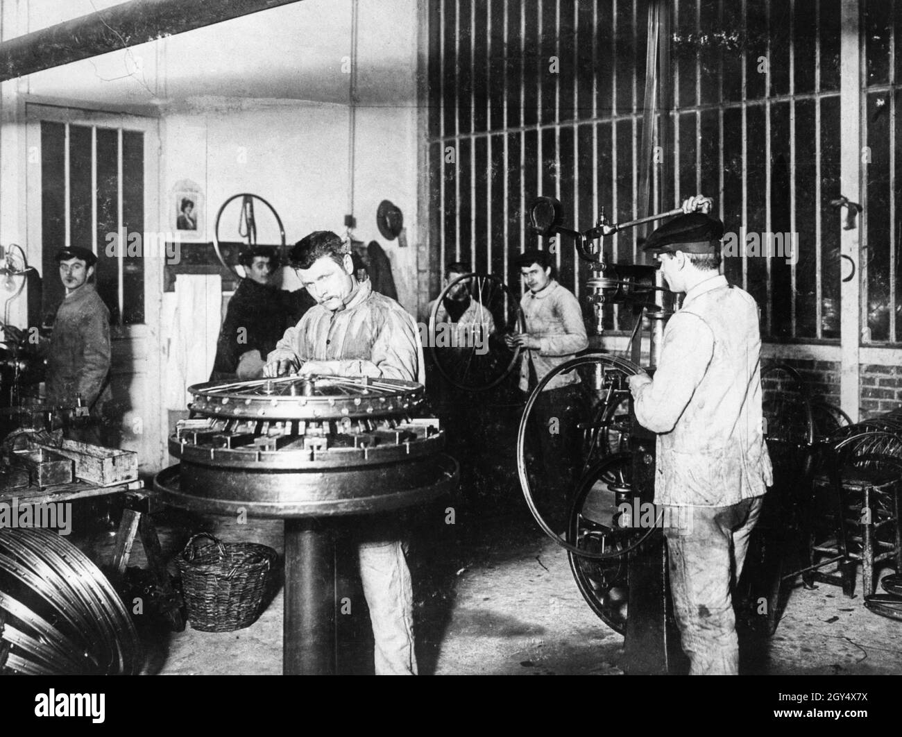
[[[462,288],[476,303],[477,323],[472,327],[437,323],[438,309],[446,297]],[[490,335],[486,335],[487,321],[482,315],[492,318],[494,329]],[[516,367],[520,349],[511,350],[505,345],[503,336],[511,332],[522,333],[524,325],[520,300],[501,279],[493,274],[463,274],[447,284],[432,306],[428,326],[429,352],[438,373],[447,382],[465,392],[484,392],[498,386]],[[447,345],[449,342],[454,345]],[[480,353],[483,346],[486,350]]]

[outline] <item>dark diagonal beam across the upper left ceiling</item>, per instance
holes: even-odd
[[[0,81],[299,0],[131,0],[0,43]]]

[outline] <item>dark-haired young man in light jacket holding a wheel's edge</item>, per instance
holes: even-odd
[[[583,310],[572,291],[553,275],[551,254],[529,250],[516,260],[527,291],[520,299],[526,319],[525,333],[511,333],[505,342],[523,349],[520,389],[532,392],[556,366],[589,345]],[[534,434],[545,466],[545,483],[537,484],[539,511],[558,530],[566,525],[575,487],[580,447],[577,425],[583,419],[585,399],[576,372],[560,373],[544,387],[533,405]]]

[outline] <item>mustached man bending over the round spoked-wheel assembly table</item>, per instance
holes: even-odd
[[[394,299],[354,278],[341,238],[317,231],[289,254],[291,267],[317,304],[285,331],[263,366],[288,373],[370,376],[425,384],[423,348],[414,319]],[[358,547],[370,608],[377,675],[416,675],[410,569],[399,539],[373,532]]]

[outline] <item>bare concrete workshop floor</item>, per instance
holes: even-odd
[[[428,516],[429,512],[426,512]],[[255,541],[282,552],[281,522],[239,525],[217,518],[161,525],[165,550],[174,554],[189,528],[206,527],[229,542]],[[171,518],[171,515],[170,515]],[[182,523],[185,524],[182,524]],[[420,673],[424,675],[620,675],[620,635],[584,603],[566,553],[516,512],[493,519],[458,520],[452,530],[424,525],[413,536]],[[101,559],[109,546],[97,547]],[[133,564],[143,563],[136,544]],[[353,561],[339,558],[339,597],[351,613],[337,624],[339,669],[373,672],[372,635]],[[860,576],[859,576],[860,578]],[[861,586],[861,581],[859,581]],[[902,673],[902,622],[870,613],[831,585],[797,585],[771,639],[743,639],[743,672],[759,674]],[[281,673],[281,585],[260,619],[235,632],[170,633],[143,630],[148,674]]]

